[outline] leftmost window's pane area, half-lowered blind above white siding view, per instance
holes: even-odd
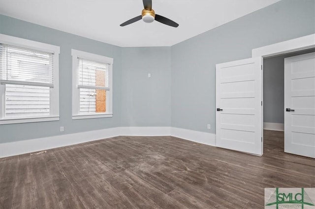
[[[50,115],[53,63],[52,53],[0,44],[6,119]]]

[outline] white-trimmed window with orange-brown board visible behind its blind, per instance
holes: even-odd
[[[113,59],[72,49],[72,119],[112,117]]]

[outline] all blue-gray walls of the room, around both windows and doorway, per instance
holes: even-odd
[[[3,15],[0,33],[61,46],[60,121],[0,125],[0,143],[117,126],[215,133],[215,65],[315,33],[315,1],[283,0],[172,47],[120,48]],[[71,119],[72,48],[114,58],[113,118]]]

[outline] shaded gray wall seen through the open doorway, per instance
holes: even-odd
[[[264,122],[284,123],[284,58],[311,52],[315,52],[315,50],[264,59]]]

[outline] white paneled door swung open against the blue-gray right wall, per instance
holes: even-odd
[[[216,146],[262,155],[261,57],[216,65]]]

